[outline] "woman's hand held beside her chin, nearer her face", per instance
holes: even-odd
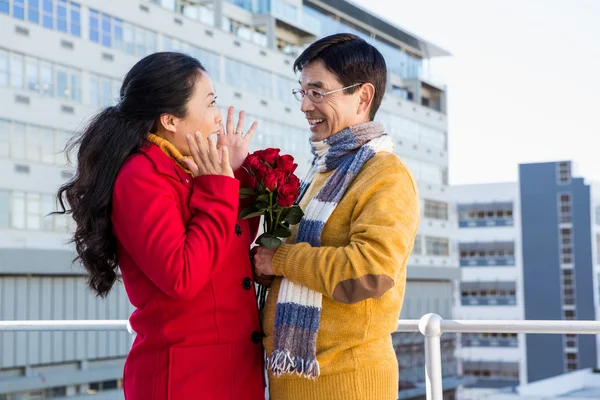
[[[233,170],[229,164],[229,151],[219,146],[211,138],[205,139],[200,132],[186,135],[192,160],[184,158],[183,162],[193,176],[223,175],[233,178]]]

